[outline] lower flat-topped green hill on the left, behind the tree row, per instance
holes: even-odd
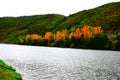
[[[65,16],[58,14],[2,17],[0,18],[0,42],[19,35],[32,33],[43,35],[55,29],[64,20]]]

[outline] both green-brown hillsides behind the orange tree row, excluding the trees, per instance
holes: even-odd
[[[19,35],[44,35],[47,31],[71,30],[84,25],[101,26],[105,31],[120,32],[120,2],[80,11],[68,17],[59,14],[1,17],[0,42]]]

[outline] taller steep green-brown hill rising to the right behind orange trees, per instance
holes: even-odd
[[[57,29],[70,29],[84,25],[101,26],[104,30],[120,31],[120,2],[72,14]]]

